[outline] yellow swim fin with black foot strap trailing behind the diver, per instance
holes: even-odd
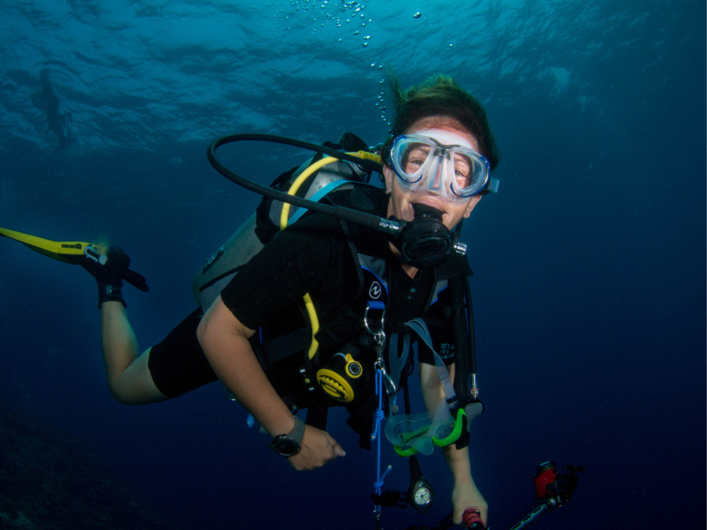
[[[69,263],[71,265],[81,265],[86,259],[93,259],[93,261],[98,261],[100,264],[107,267],[117,273],[122,277],[127,283],[134,285],[136,288],[142,291],[148,291],[149,288],[145,283],[144,276],[131,271],[125,266],[112,261],[105,261],[105,251],[107,248],[105,245],[94,245],[93,243],[86,243],[83,241],[52,241],[45,240],[42,237],[37,237],[35,235],[23,234],[22,232],[16,232],[15,230],[8,230],[7,228],[0,228],[0,235],[4,237],[9,237],[11,240],[19,241],[23,245],[30,247],[35,252],[49,256],[50,258],[58,259],[59,261],[64,261],[64,263]]]

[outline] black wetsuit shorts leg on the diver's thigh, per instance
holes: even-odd
[[[157,389],[170,398],[218,380],[197,340],[201,307],[150,350],[148,368]]]

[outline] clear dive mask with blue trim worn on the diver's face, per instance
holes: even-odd
[[[466,201],[489,183],[491,166],[467,139],[443,129],[402,134],[390,149],[399,184],[410,192],[427,192],[447,201]]]

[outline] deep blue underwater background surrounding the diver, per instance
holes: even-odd
[[[554,459],[586,471],[538,529],[704,528],[705,11],[0,0],[0,226],[128,252],[151,287],[124,288],[143,351],[194,309],[192,276],[259,202],[213,170],[209,142],[353,131],[372,145],[387,135],[388,66],[404,86],[451,74],[503,152],[500,192],[462,232],[486,404],[470,452],[491,526],[532,503],[535,466]],[[71,145],[33,103],[44,69]],[[307,156],[224,148],[264,184]],[[375,527],[375,453],[345,414],[329,432],[347,456],[298,473],[218,383],[118,404],[93,278],[4,238],[0,271],[0,528]],[[384,448],[384,489],[406,489],[406,462]],[[421,465],[435,507],[386,509],[385,529],[450,510],[441,455]]]

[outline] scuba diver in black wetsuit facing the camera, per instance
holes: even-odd
[[[386,436],[404,456],[430,454],[433,444],[442,447],[454,483],[454,522],[460,524],[473,510],[486,524],[486,500],[472,478],[467,449],[468,423],[479,413],[469,414],[469,406],[481,404],[474,395],[462,399],[459,391],[464,381],[467,387],[469,379],[474,384],[475,366],[469,377],[469,355],[460,355],[472,343],[462,288],[472,271],[458,237],[461,221],[481,196],[495,191],[497,181],[490,174],[500,155],[481,103],[452,78],[437,76],[403,90],[391,76],[390,85],[395,119],[392,136],[378,149],[377,166],[385,188],[355,182],[365,165],[341,160],[337,171],[348,176],[337,182],[346,185],[327,192],[326,183],[312,184],[306,193],[320,195],[312,199],[330,205],[337,215],[358,211],[378,216],[383,224],[397,223],[407,230],[407,239],[320,211],[305,213],[305,208],[291,216],[289,204],[265,197],[258,215],[197,273],[194,291],[201,307],[142,354],[121,289],[123,279],[141,290],[147,286],[127,269],[127,254],[68,243],[61,252],[76,256],[62,254],[62,259],[81,264],[98,283],[103,360],[117,401],[163,401],[220,380],[269,435],[269,448],[298,470],[346,455],[326,431],[328,407],[346,406],[351,413],[347,423],[364,448],[377,435],[380,418],[399,411],[400,389],[407,408],[411,344],[417,341],[427,409],[423,425],[418,428],[414,418],[398,414],[398,430],[386,427]],[[348,143],[357,144],[361,156],[378,158],[352,136]],[[211,144],[209,159],[226,175],[214,155],[218,142]],[[296,187],[293,179],[304,175],[308,165],[281,175],[274,187]],[[322,175],[325,169],[318,171]],[[276,228],[270,230],[267,223],[273,218],[286,228],[271,223]],[[3,230],[0,235],[21,240],[16,232]],[[257,240],[244,236],[254,231]],[[21,241],[41,247],[37,238]],[[54,252],[43,248],[40,252]],[[234,257],[234,252],[247,257]],[[469,310],[468,295],[466,300]],[[457,325],[460,319],[463,329]],[[296,416],[301,409],[308,410],[306,423]],[[454,430],[450,434],[446,428]],[[379,495],[380,485],[379,464]],[[428,488],[410,496],[431,501]]]

